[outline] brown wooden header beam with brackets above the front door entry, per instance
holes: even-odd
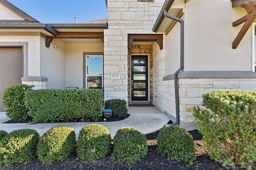
[[[156,41],[160,50],[163,49],[162,34],[128,34],[128,49],[133,41]]]

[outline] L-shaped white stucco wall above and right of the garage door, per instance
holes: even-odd
[[[39,35],[0,35],[1,42],[27,42],[27,76],[40,75],[40,36]]]

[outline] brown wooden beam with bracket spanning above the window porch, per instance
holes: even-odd
[[[45,39],[45,46],[50,47],[53,38],[94,38],[100,39],[104,43],[103,32],[59,32],[56,36],[47,36]]]

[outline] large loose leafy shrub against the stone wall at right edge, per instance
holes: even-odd
[[[256,90],[214,90],[193,109],[210,157],[223,166],[256,163]]]

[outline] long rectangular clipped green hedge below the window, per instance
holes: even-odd
[[[26,93],[33,122],[97,121],[102,116],[101,89],[41,89]]]

